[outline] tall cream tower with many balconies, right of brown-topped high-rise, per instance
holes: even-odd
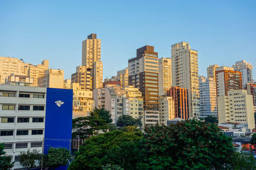
[[[198,52],[189,43],[172,45],[172,86],[188,89],[189,117],[200,118]]]

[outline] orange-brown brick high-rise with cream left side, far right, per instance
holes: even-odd
[[[233,67],[221,66],[216,68],[217,96],[227,96],[228,90],[243,89],[242,74],[234,71]]]

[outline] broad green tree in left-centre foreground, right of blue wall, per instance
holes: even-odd
[[[68,169],[134,169],[139,156],[137,144],[142,137],[140,131],[120,130],[92,136],[85,140]]]

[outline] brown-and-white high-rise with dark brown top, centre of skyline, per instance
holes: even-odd
[[[137,49],[137,56],[129,59],[129,85],[140,89],[143,96],[145,125],[159,124],[158,57],[154,46]]]

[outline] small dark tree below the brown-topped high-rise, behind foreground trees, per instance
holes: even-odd
[[[118,127],[125,127],[125,126],[142,127],[142,122],[140,118],[132,118],[130,115],[122,115],[118,117],[116,125]]]

